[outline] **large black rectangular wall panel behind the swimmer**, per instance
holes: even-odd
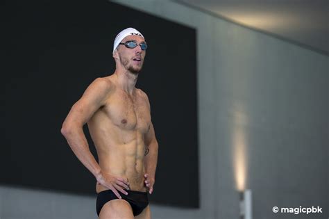
[[[149,44],[137,87],[149,95],[160,145],[151,202],[199,206],[196,31],[108,1],[3,8],[0,183],[95,194],[60,127],[85,88],[114,72],[113,40],[132,26]]]

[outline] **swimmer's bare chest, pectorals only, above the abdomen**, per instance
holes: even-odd
[[[111,122],[121,129],[146,133],[151,124],[149,106],[142,97],[130,97],[117,92],[108,99],[103,111],[110,117]]]

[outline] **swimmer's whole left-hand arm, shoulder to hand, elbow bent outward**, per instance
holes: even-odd
[[[85,90],[81,99],[71,107],[71,111],[69,111],[62,124],[61,132],[79,161],[92,172],[92,175],[99,183],[113,190],[119,197],[120,195],[116,190],[124,192],[121,187],[127,188],[128,181],[119,178],[114,179],[110,176],[107,176],[108,179],[104,179],[105,176],[90,152],[85,133],[83,133],[83,125],[90,120],[101,106],[106,104],[106,99],[112,90],[111,82],[108,79],[99,78],[93,81]]]

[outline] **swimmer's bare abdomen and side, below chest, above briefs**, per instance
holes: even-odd
[[[144,137],[138,129],[122,129],[107,117],[94,115],[88,122],[103,173],[128,179],[129,189],[146,191],[144,187]],[[96,193],[108,190],[96,184]]]

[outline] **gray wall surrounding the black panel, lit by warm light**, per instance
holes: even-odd
[[[298,218],[328,218],[328,56],[172,1],[117,2],[197,30],[201,209],[153,206],[153,218],[238,218],[236,172],[253,191],[254,218],[292,218],[273,206],[321,206],[326,213]],[[53,207],[53,218],[94,213],[92,197],[35,192],[43,195],[29,205],[6,202],[33,194],[21,191],[2,186],[1,219],[27,218],[17,211],[37,218],[37,203],[49,197],[83,209],[73,216],[59,207],[56,217]]]

